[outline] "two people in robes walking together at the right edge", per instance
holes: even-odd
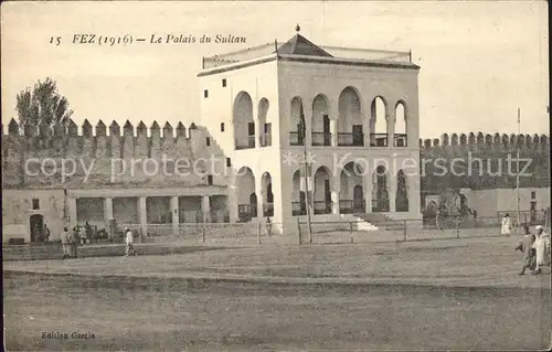
[[[523,237],[520,239],[516,250],[523,253],[523,266],[519,275],[524,275],[527,269],[538,275],[542,273],[543,266],[550,266],[550,234],[544,232],[541,225],[534,227],[537,234],[531,234],[529,226],[523,226]]]

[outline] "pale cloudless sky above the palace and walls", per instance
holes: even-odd
[[[545,1],[2,2],[2,124],[15,96],[52,77],[81,125],[199,120],[202,56],[301,34],[316,44],[408,51],[420,65],[422,138],[548,134]],[[74,34],[245,36],[245,44],[73,44]],[[50,43],[61,36],[61,44]]]

